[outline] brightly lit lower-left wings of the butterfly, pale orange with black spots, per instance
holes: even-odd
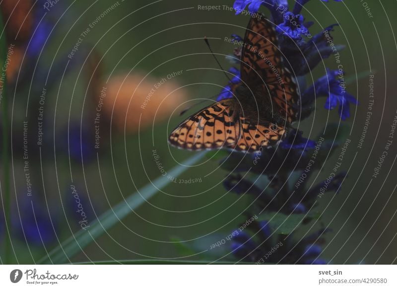
[[[228,147],[252,152],[282,138],[283,128],[268,122],[253,124],[236,104],[227,99],[200,110],[171,133],[169,143],[189,150]]]

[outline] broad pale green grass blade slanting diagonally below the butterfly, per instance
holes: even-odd
[[[198,162],[204,155],[205,151],[195,154],[184,162],[171,169],[168,174],[174,177],[179,176],[186,171],[191,165]],[[86,246],[101,236],[108,229],[116,225],[124,217],[132,213],[133,210],[144,204],[146,200],[153,197],[160,189],[164,188],[171,182],[171,178],[160,176],[150,184],[127,197],[124,201],[115,207],[106,211],[97,220],[92,222],[90,226],[66,239],[61,245],[57,246],[47,256],[39,260],[39,264],[62,264],[70,262],[70,258],[81,252]]]

